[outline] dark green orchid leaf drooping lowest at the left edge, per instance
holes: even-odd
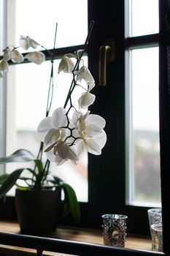
[[[20,174],[25,170],[25,168],[18,169],[9,174],[8,178],[4,181],[4,183],[0,187],[0,198],[4,197],[7,194],[9,189],[11,189],[16,181],[18,180]]]

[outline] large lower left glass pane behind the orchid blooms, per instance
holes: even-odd
[[[88,58],[84,57],[85,65]],[[54,62],[54,92],[53,104],[50,110],[64,105],[72,74],[61,72],[58,75],[59,61]],[[36,128],[42,118],[45,118],[47,92],[50,81],[50,61],[45,61],[41,66],[28,63],[12,65],[9,67],[8,76],[8,129],[7,129],[7,154],[18,148],[26,148],[35,155],[38,154],[40,141],[36,136]],[[77,99],[82,94],[82,87],[76,86],[72,94],[72,102],[77,108]],[[45,155],[45,154],[44,154]],[[46,160],[46,156],[44,156]],[[28,167],[24,164],[7,164],[7,172],[14,168]],[[61,166],[52,163],[50,170],[55,176],[61,177],[65,182],[74,187],[78,200],[88,201],[88,155],[84,154],[78,165],[66,162]]]

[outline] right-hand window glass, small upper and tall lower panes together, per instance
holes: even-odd
[[[158,42],[154,41],[158,34],[158,1],[127,2],[125,34],[131,40],[125,62],[128,203],[160,207],[159,64]]]

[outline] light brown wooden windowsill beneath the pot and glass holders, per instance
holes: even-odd
[[[17,222],[0,221],[0,232],[3,233],[20,233],[20,227]],[[49,233],[44,237],[58,238],[69,241],[80,241],[90,244],[103,244],[102,230],[90,230],[85,228],[61,227],[58,226],[54,233]],[[150,237],[127,235],[125,248],[141,249],[151,251],[152,242]],[[8,252],[9,251],[9,252]],[[0,244],[0,255],[21,255],[20,252],[25,251],[24,255],[35,255],[33,249],[20,249],[13,246],[4,246]],[[16,253],[16,254],[15,254]],[[22,254],[23,255],[23,254]],[[43,255],[63,255],[55,252],[44,252]]]

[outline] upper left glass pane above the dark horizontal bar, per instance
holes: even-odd
[[[18,45],[20,34],[23,34],[34,38],[45,48],[53,48],[56,23],[56,48],[85,42],[88,32],[87,0],[8,0],[8,7],[9,29],[15,34],[8,44]]]

